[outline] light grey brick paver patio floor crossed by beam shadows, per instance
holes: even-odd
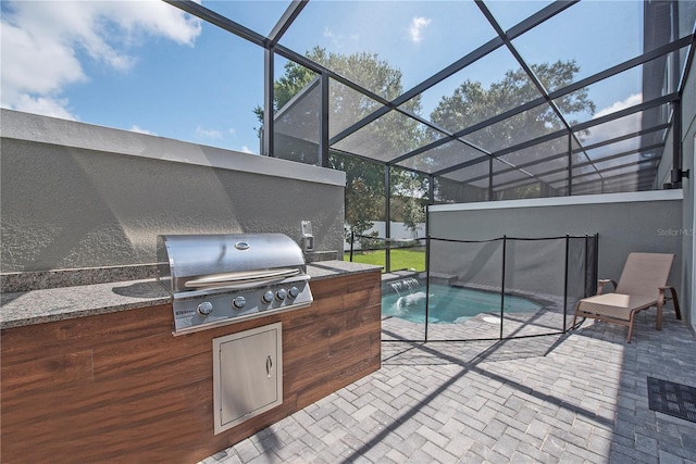
[[[693,333],[666,310],[625,335],[385,341],[378,372],[202,463],[696,463],[696,423],[647,397],[648,376],[696,387]]]

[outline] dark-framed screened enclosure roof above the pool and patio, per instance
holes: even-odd
[[[696,18],[694,1],[170,3],[266,50],[265,108],[288,63],[311,77],[264,120],[268,154],[548,196],[662,187]]]

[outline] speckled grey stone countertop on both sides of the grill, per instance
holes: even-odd
[[[346,261],[321,261],[307,265],[307,273],[314,280],[378,269],[380,266]],[[171,302],[172,296],[157,279],[3,292],[0,302],[0,329]]]

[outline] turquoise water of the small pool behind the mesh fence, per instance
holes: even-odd
[[[462,323],[481,313],[500,315],[500,294],[470,288],[430,286],[428,323]],[[504,313],[529,313],[542,309],[525,298],[506,294]],[[425,286],[382,297],[382,316],[413,323],[425,322]]]

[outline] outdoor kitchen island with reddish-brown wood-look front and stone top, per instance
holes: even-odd
[[[307,265],[310,306],[173,336],[154,279],[3,292],[1,462],[195,463],[380,368],[380,267]],[[282,324],[283,403],[214,435],[214,338]]]

